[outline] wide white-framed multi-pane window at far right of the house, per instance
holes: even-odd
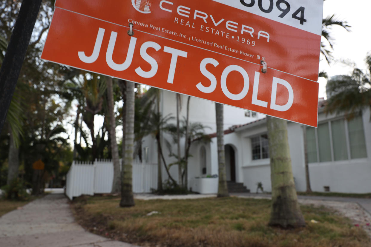
[[[306,127],[308,163],[367,158],[362,116]]]

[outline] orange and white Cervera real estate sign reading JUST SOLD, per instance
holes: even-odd
[[[42,59],[316,126],[323,0],[293,2],[57,0]]]

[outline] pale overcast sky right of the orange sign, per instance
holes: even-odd
[[[366,70],[364,59],[371,51],[370,28],[371,0],[326,0],[324,1],[323,16],[335,16],[339,20],[346,20],[351,26],[350,32],[344,28],[336,27],[332,30],[335,38],[333,55],[336,60],[350,60],[359,69]],[[328,76],[337,74],[350,74],[351,66],[334,62],[327,64],[325,59],[319,63],[319,71],[325,71]],[[325,97],[326,80],[319,79],[319,97]]]

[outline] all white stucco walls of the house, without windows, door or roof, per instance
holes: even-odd
[[[186,114],[187,96],[182,95],[181,119]],[[175,117],[176,101],[175,93],[163,91],[161,97],[161,110],[163,116],[172,113]],[[234,107],[224,106],[224,130],[236,124],[245,124],[256,120],[250,117],[244,117],[244,110]],[[261,114],[258,114],[261,117]],[[334,115],[326,116],[320,113],[319,123],[334,118]],[[215,133],[215,104],[210,101],[192,97],[190,100],[190,121],[201,122],[210,128],[206,133]],[[174,120],[175,123],[175,120]],[[349,159],[343,161],[321,162],[309,164],[309,175],[313,191],[324,191],[324,186],[330,186],[331,191],[344,193],[370,193],[371,192],[371,124],[370,109],[366,108],[363,114],[363,125],[365,133],[365,143],[367,147],[367,158]],[[304,138],[303,125],[288,122],[288,139],[290,147],[290,156],[292,161],[292,172],[295,178],[295,186],[298,191],[306,190],[305,164],[304,164]],[[265,191],[271,191],[270,183],[270,164],[269,158],[263,160],[252,160],[251,137],[266,133],[265,121],[252,123],[244,127],[237,128],[235,132],[224,135],[224,144],[230,144],[234,147],[236,163],[236,181],[242,182],[252,192],[256,190],[256,183],[262,182]],[[168,157],[168,150],[165,146],[164,138],[172,141],[167,134],[162,136],[162,148],[167,164],[174,162],[174,158]],[[143,147],[150,147],[151,162],[157,162],[157,145],[154,139],[145,138]],[[181,152],[184,152],[184,140],[181,140]],[[188,162],[188,182],[194,177],[201,175],[200,168],[200,144],[193,144]],[[212,138],[210,144],[206,147],[206,168],[207,174],[218,174],[217,163],[217,141]],[[177,153],[176,144],[172,143],[172,150]],[[229,168],[227,168],[229,173]],[[172,176],[177,180],[177,166],[170,169]],[[230,177],[230,174],[228,174]],[[162,169],[162,178],[165,180],[167,174]]]

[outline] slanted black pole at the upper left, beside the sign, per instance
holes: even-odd
[[[19,73],[42,0],[23,0],[0,70],[0,132],[16,88]]]

